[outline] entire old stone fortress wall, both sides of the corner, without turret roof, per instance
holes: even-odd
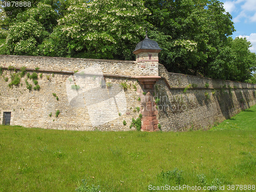
[[[37,73],[40,89],[29,91],[26,75],[9,88],[15,73],[9,66]],[[256,102],[255,84],[169,73],[152,61],[1,55],[0,68],[0,123],[11,112],[10,124],[26,127],[128,131],[142,114],[142,130],[160,124],[163,131],[184,131],[207,128]],[[147,77],[156,78],[153,89],[145,86]],[[146,112],[147,106],[153,109]]]

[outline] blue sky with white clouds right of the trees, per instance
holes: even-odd
[[[251,52],[256,53],[256,0],[220,0],[226,12],[232,15],[234,28],[232,37],[246,37],[252,44]]]

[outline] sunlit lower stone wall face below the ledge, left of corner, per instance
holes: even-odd
[[[1,123],[3,113],[11,112],[11,125],[61,130],[127,131],[130,130],[132,118],[139,116],[136,108],[140,106],[138,97],[141,90],[136,80],[106,78],[106,84],[111,84],[111,87],[67,91],[67,86],[70,87],[68,79],[72,76],[42,73],[42,78],[38,76],[40,90],[29,91],[26,88],[26,77],[22,78],[19,86],[9,88],[10,73],[12,72],[5,70],[0,77]],[[9,77],[7,82],[6,77]],[[32,80],[28,79],[28,82],[33,85]],[[124,91],[120,87],[121,82],[131,88]],[[82,87],[82,84],[79,86]],[[135,90],[134,87],[138,89]],[[97,94],[99,92],[100,96]],[[58,117],[57,110],[60,112]],[[123,125],[124,120],[126,125]]]

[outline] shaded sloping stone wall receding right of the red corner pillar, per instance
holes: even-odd
[[[209,127],[256,102],[255,84],[168,73],[162,65],[159,74],[170,84],[168,88],[161,79],[155,86],[160,99],[158,119],[164,131]]]

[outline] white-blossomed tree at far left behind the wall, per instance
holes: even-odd
[[[53,5],[42,2],[47,3],[47,1],[36,4],[31,2],[30,7],[18,7],[13,12],[16,15],[14,18],[12,14],[11,16],[7,14],[6,19],[9,21],[9,26],[5,24],[8,29],[6,47],[10,54],[42,55],[42,41],[53,32],[54,27],[58,24],[57,19],[60,17],[60,13],[63,13],[61,9],[54,9],[57,8],[56,1],[48,2]],[[12,10],[9,7],[5,9]]]

